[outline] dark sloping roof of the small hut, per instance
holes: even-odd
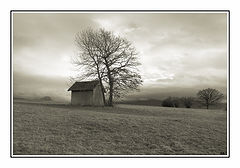
[[[84,81],[84,82],[75,82],[68,91],[88,91],[93,90],[97,85],[99,84],[99,81]]]

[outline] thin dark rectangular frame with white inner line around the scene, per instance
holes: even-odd
[[[106,12],[106,13],[111,13],[111,12],[119,12],[119,13],[135,13],[135,12],[142,12],[142,13],[150,13],[150,12],[155,12],[155,13],[165,13],[165,12],[203,12],[203,13],[217,13],[217,12],[226,12],[228,14],[228,22],[227,22],[227,27],[228,27],[228,88],[227,88],[227,95],[228,95],[228,154],[227,155],[13,155],[13,100],[12,100],[12,93],[13,93],[13,88],[12,88],[12,82],[13,82],[13,75],[12,75],[12,17],[14,12],[29,12],[29,13],[37,13],[37,12],[49,12],[49,13],[56,13],[56,12],[62,12],[62,13],[67,13],[67,12],[79,12],[79,13],[84,13],[84,12],[91,12],[91,13],[97,13],[97,12]],[[10,10],[10,158],[230,158],[230,10]]]

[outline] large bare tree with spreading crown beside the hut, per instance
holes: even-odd
[[[113,32],[104,29],[84,30],[76,35],[76,44],[80,49],[77,66],[87,70],[86,77],[97,77],[102,91],[108,93],[108,104],[113,98],[119,98],[129,90],[137,90],[142,80],[138,72],[136,49],[132,44]]]

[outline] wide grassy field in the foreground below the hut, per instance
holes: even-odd
[[[13,106],[14,155],[219,155],[226,111],[138,105]]]

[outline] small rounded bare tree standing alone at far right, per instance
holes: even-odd
[[[209,108],[209,105],[219,102],[224,97],[221,92],[212,88],[200,90],[197,93],[197,96],[200,101],[206,105],[207,109]]]

